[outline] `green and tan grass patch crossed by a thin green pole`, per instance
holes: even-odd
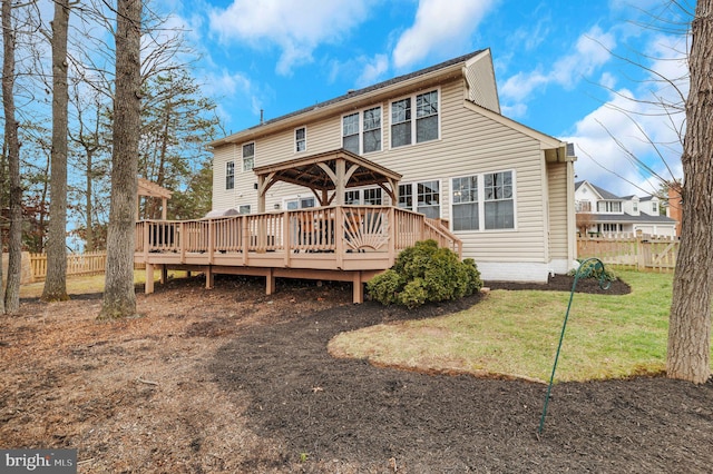
[[[617,271],[629,295],[576,294],[556,381],[621,378],[665,368],[673,276]],[[429,372],[548,381],[568,292],[494,290],[465,312],[336,336],[330,352]]]

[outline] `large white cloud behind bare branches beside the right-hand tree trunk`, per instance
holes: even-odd
[[[680,103],[687,96],[685,43],[685,37],[649,38],[644,47],[647,59],[642,63],[652,72],[633,82],[636,89],[619,88],[612,93],[606,103],[576,124],[572,137],[563,138],[578,147],[579,159],[575,164],[578,179],[590,180],[616,194],[641,195],[644,191],[638,188],[652,192],[660,186],[661,180],[653,172],[663,179],[683,177],[678,134],[683,131],[685,115],[671,108],[664,110],[660,103]],[[674,85],[661,80],[662,77],[674,80]],[[635,165],[616,141],[653,172]]]

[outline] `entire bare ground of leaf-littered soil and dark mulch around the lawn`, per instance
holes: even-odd
[[[0,316],[0,448],[74,447],[81,473],[711,472],[711,382],[559,383],[538,435],[543,384],[328,354],[341,332],[479,296],[404,310],[352,305],[351,285],[279,280],[268,297],[261,278],[203,285],[139,294],[144,317],[125,322],[95,322],[99,295]]]

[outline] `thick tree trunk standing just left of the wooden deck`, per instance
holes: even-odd
[[[100,319],[136,314],[134,247],[140,132],[141,0],[118,0],[116,93],[111,154],[111,200],[107,267]]]

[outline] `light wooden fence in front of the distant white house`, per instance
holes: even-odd
[[[578,237],[577,257],[597,257],[605,264],[637,270],[673,271],[676,267],[678,239],[634,234]]]

